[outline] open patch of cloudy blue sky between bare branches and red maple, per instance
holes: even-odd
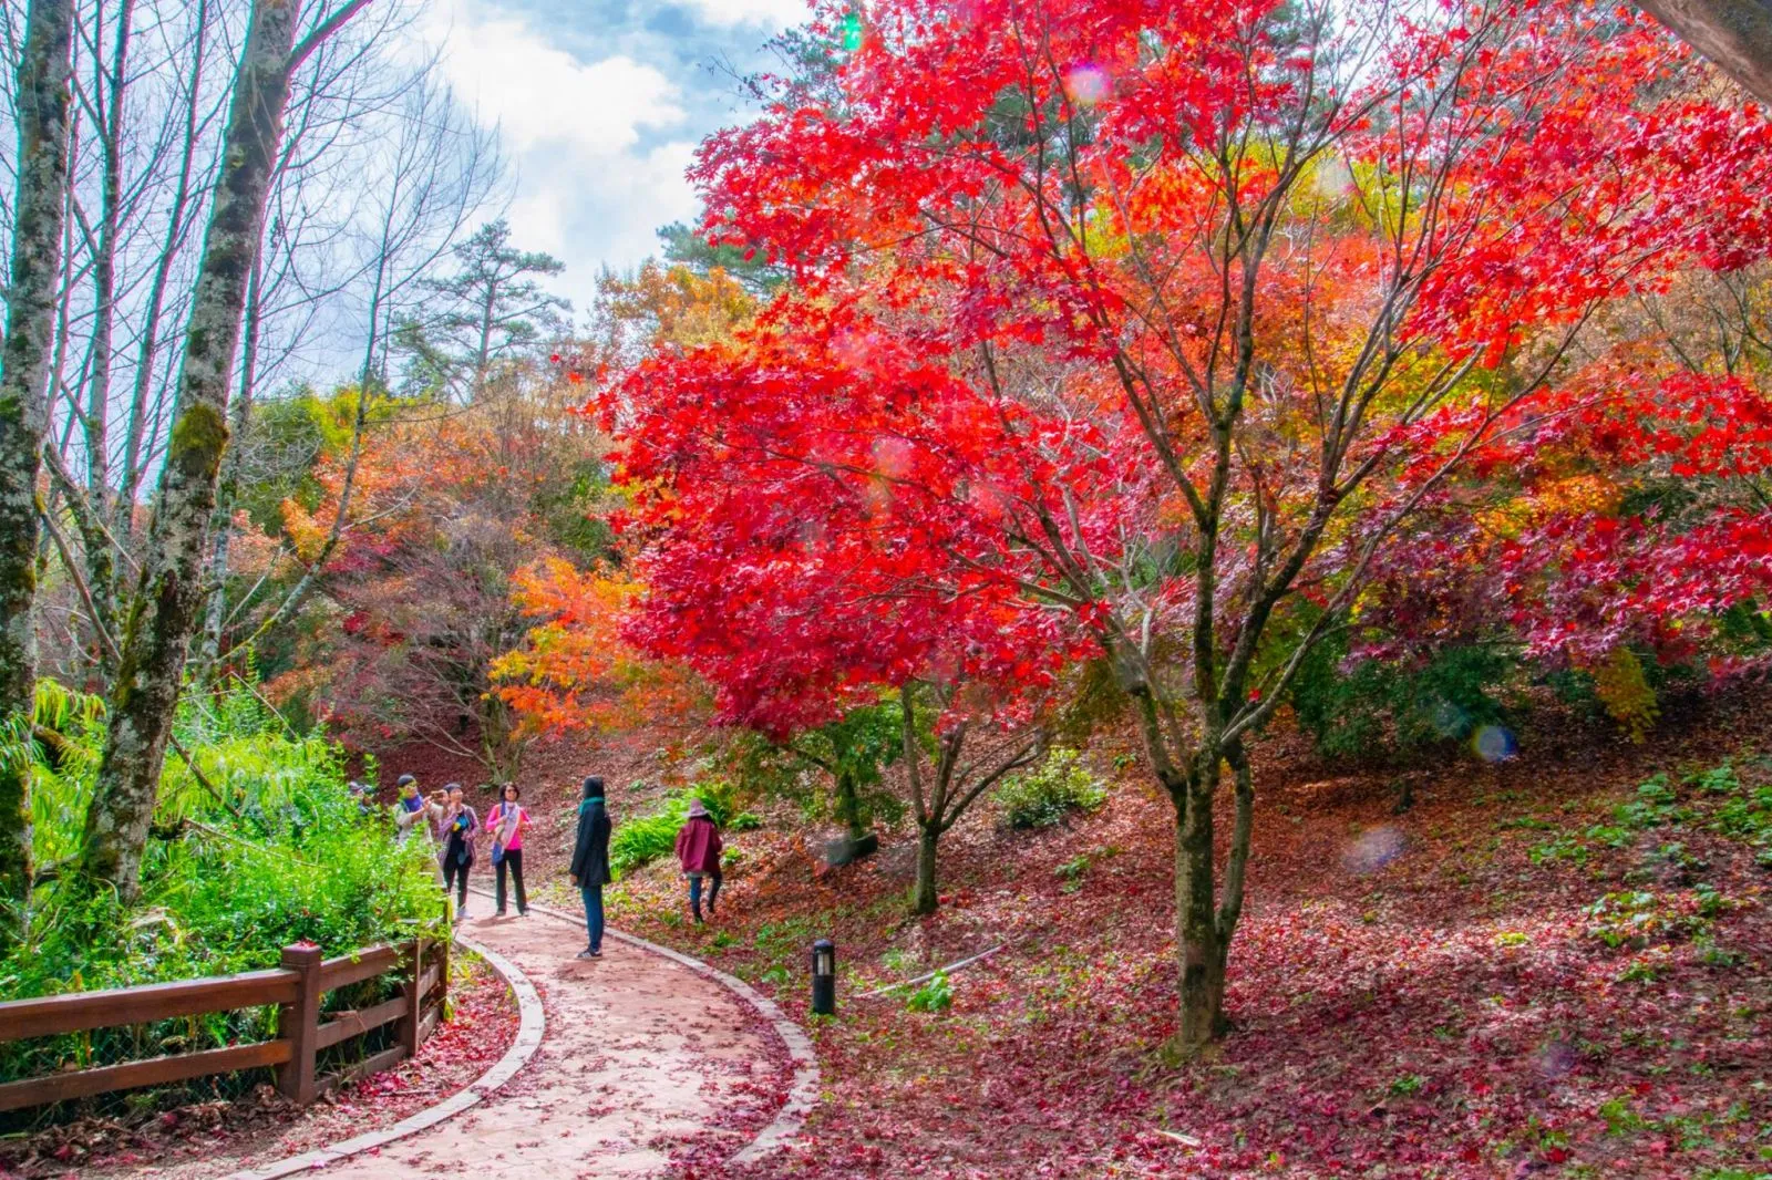
[[[604,264],[634,266],[656,227],[695,214],[695,145],[748,117],[716,64],[760,67],[764,41],[804,18],[804,0],[434,0],[422,32],[501,128],[512,237],[562,259],[560,292],[583,308]]]

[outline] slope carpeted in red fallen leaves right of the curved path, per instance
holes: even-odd
[[[1265,767],[1237,1028],[1193,1063],[1164,1049],[1166,811],[1136,787],[1049,833],[962,824],[927,921],[904,918],[902,838],[817,875],[787,833],[739,835],[705,930],[652,870],[617,920],[796,1017],[813,937],[849,971],[838,1019],[813,1029],[824,1100],[796,1150],[750,1169],[679,1159],[677,1175],[1760,1180],[1772,870],[1724,831],[1729,808],[1772,797],[1756,712],[1646,749],[1453,758],[1405,815],[1389,776]],[[1724,758],[1726,788],[1687,781]],[[994,943],[952,978],[948,1012],[856,999]]]

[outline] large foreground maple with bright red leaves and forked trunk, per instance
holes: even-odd
[[[1226,1024],[1247,742],[1311,647],[1425,507],[1476,510],[1453,477],[1568,416],[1598,308],[1763,257],[1767,124],[1692,69],[1586,5],[870,5],[696,168],[711,234],[790,289],[606,395],[636,519],[672,537],[649,581],[707,590],[682,641],[783,716],[804,698],[764,670],[843,611],[836,686],[955,604],[1092,647],[1173,801],[1198,1045]]]

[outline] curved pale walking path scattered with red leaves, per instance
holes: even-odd
[[[781,1047],[727,987],[615,937],[576,960],[585,928],[549,914],[464,927],[540,992],[540,1049],[478,1106],[321,1175],[657,1176],[686,1143],[730,1155],[769,1122]]]

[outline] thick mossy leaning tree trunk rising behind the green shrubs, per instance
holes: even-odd
[[[83,872],[133,898],[159,771],[202,602],[202,562],[227,448],[227,397],[246,285],[264,229],[271,168],[289,103],[296,0],[255,0],[229,108],[223,165],[184,335],[179,413],[129,608]]]

